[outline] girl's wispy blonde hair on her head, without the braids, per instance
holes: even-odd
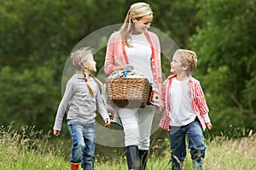
[[[73,68],[76,71],[84,71],[83,63],[90,61],[92,55],[93,49],[89,47],[79,48],[75,50],[70,56]]]

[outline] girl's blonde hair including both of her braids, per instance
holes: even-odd
[[[94,49],[89,48],[89,47],[79,48],[79,49],[75,50],[70,56],[73,68],[76,71],[83,72],[83,74],[84,74],[84,71],[87,69],[84,67],[84,63],[90,62],[90,60],[93,59],[93,54],[94,54]],[[103,83],[96,77],[94,77],[92,75],[91,75],[91,77],[94,78],[94,80],[96,81],[98,86],[102,89]],[[93,93],[92,88],[90,88],[89,83],[87,83],[87,77],[85,76],[85,74],[84,74],[84,81],[87,85],[87,88],[89,89],[90,96],[93,98],[94,93]]]

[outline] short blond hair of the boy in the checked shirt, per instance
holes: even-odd
[[[197,57],[194,51],[188,49],[177,49],[174,55],[180,58],[182,65],[189,66],[189,72],[195,70]]]

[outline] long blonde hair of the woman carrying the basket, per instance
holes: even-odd
[[[135,17],[137,20],[143,18],[143,16],[153,14],[148,3],[133,3],[131,8],[126,14],[124,24],[120,27],[119,31],[121,34],[121,39],[125,42],[127,47],[131,47],[128,39],[131,37],[131,33],[134,30],[132,24],[132,18]]]

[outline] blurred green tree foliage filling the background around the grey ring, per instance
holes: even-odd
[[[49,130],[68,55],[91,32],[122,23],[134,2],[0,1],[0,123]],[[152,26],[198,54],[194,76],[206,92],[215,132],[230,125],[255,129],[255,2],[145,2],[154,10]],[[166,75],[169,62],[163,59]]]

